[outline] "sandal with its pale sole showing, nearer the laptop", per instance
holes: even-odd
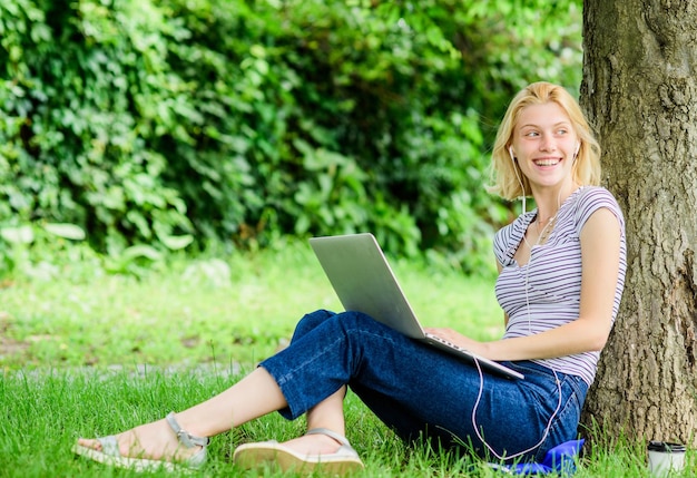
[[[276,465],[283,471],[312,474],[315,469],[332,475],[345,475],[364,468],[359,453],[348,440],[326,428],[314,428],[305,435],[326,435],[341,443],[338,450],[328,455],[302,455],[275,440],[245,443],[237,447],[233,461],[243,469],[255,469],[264,465]]]

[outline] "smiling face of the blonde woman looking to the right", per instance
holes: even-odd
[[[559,189],[573,181],[578,145],[569,116],[553,101],[524,107],[511,138],[513,156],[533,191]]]

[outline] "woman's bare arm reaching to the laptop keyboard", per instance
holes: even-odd
[[[579,318],[530,336],[478,342],[451,329],[429,329],[491,360],[550,359],[600,351],[612,323],[619,274],[620,227],[607,208],[596,211],[581,230],[581,297]]]

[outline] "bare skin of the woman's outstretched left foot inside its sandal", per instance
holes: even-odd
[[[116,435],[121,457],[164,461],[184,461],[202,447],[186,448],[166,420],[141,425]],[[78,445],[95,451],[104,451],[97,439],[78,439]]]

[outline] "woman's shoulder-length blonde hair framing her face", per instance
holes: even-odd
[[[511,159],[509,147],[523,108],[551,101],[559,105],[569,116],[580,142],[580,149],[571,170],[573,181],[581,186],[600,184],[600,145],[580,106],[565,88],[539,81],[523,88],[513,97],[499,126],[491,153],[491,186],[489,187],[491,193],[509,201],[530,195],[528,178],[522,174],[518,164]]]

